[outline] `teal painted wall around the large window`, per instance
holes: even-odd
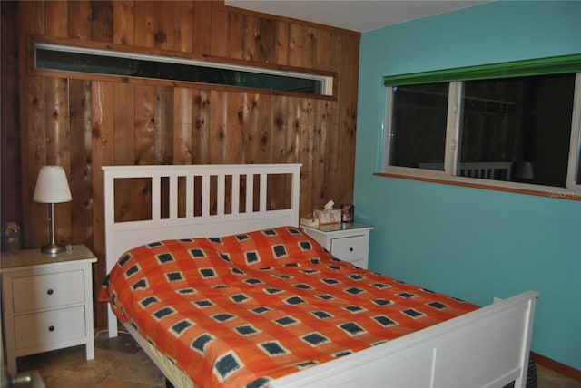
[[[478,305],[537,290],[533,351],[581,370],[581,202],[373,175],[384,75],[571,53],[579,1],[497,1],[362,34],[354,198],[375,227],[371,269]]]

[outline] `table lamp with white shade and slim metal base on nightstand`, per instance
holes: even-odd
[[[38,172],[34,202],[46,203],[48,207],[49,243],[41,248],[41,252],[55,255],[64,252],[66,248],[54,241],[54,204],[72,200],[69,183],[61,166],[43,166]]]

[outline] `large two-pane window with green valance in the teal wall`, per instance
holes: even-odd
[[[386,77],[384,172],[581,197],[580,71],[574,55]]]

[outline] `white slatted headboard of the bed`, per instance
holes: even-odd
[[[229,165],[178,165],[178,166],[104,166],[105,196],[105,255],[107,272],[127,250],[154,241],[170,238],[226,236],[263,228],[299,225],[300,164],[229,164]],[[291,176],[291,208],[267,209],[271,193],[267,179],[272,175]],[[254,177],[260,177],[255,188]],[[201,177],[200,179],[194,179]],[[211,213],[211,177],[216,177],[216,209]],[[226,177],[231,177],[231,192],[226,192]],[[119,179],[151,179],[151,219],[140,221],[115,221],[115,182]],[[162,218],[162,179],[169,180],[169,215]],[[185,198],[185,215],[178,215],[178,179],[185,184],[180,191]],[[194,181],[200,182],[202,213],[194,214]],[[245,190],[241,190],[242,186]],[[254,209],[254,195],[259,192],[259,206]],[[183,192],[184,191],[184,192]],[[241,194],[241,191],[244,195]],[[241,204],[241,201],[244,203]],[[225,209],[231,209],[226,213]],[[243,212],[240,209],[244,209]]]

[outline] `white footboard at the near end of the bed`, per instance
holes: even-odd
[[[277,379],[272,388],[501,387],[527,383],[538,294],[526,292]]]

